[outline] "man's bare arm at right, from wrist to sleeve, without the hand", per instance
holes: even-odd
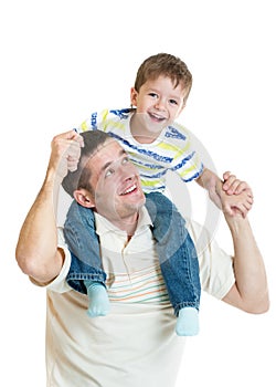
[[[269,308],[266,272],[250,221],[237,211],[224,215],[234,243],[236,281],[223,301],[248,313],[265,313]]]

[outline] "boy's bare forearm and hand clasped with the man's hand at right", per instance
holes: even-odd
[[[243,217],[251,210],[253,195],[245,181],[236,179],[229,171],[223,174],[222,181],[212,170],[204,168],[201,176],[195,180],[209,192],[211,200],[224,212],[232,215],[238,209]]]

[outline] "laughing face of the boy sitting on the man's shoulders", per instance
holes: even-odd
[[[131,88],[131,104],[147,130],[157,133],[171,125],[184,108],[185,90],[174,84],[168,76],[148,80],[137,92]]]

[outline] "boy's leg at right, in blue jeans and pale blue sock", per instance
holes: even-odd
[[[146,197],[162,275],[178,316],[177,334],[197,335],[201,285],[194,244],[185,229],[184,219],[167,197],[160,192]]]

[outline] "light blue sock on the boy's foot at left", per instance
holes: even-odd
[[[88,295],[88,316],[105,316],[110,308],[105,285],[95,281],[84,281],[84,284],[87,289]]]

